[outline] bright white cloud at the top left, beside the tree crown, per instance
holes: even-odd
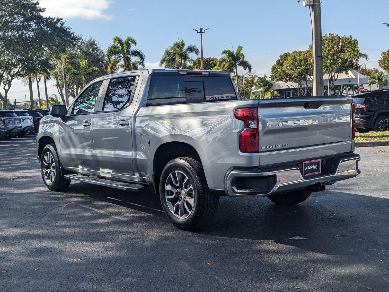
[[[109,7],[109,0],[41,0],[41,7],[46,8],[44,16],[60,18],[85,18],[110,20],[112,16],[103,14]]]

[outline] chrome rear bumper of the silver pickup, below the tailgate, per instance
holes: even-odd
[[[360,159],[361,156],[358,154],[331,158],[321,176],[306,179],[303,178],[300,169],[296,165],[285,165],[261,170],[230,169],[224,180],[224,191],[232,197],[264,197],[307,188],[317,183],[332,185],[336,181],[357,176],[360,173],[358,170],[358,161]],[[237,186],[237,179],[249,179],[251,183],[261,180],[267,187],[241,188]]]

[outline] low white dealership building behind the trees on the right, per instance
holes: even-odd
[[[324,91],[326,92],[328,88],[328,79],[327,74],[324,74]],[[387,77],[386,77],[387,78]],[[359,87],[363,87],[365,90],[376,90],[377,85],[373,84],[368,86],[368,77],[359,74]],[[312,92],[313,79],[312,76],[309,77],[308,87]],[[383,88],[382,86],[380,87]],[[384,88],[388,88],[388,85]],[[292,97],[292,96],[303,96],[301,90],[298,88],[298,85],[293,82],[276,82],[273,84],[272,90],[276,90],[279,93],[279,97]],[[310,95],[306,89],[306,86],[303,86],[303,90],[307,93],[305,95]],[[252,93],[263,92],[263,89],[258,89],[255,86],[251,88]],[[358,72],[350,70],[347,74],[339,73],[338,79],[335,81],[333,88],[331,88],[331,95],[350,95],[359,93],[358,88]]]

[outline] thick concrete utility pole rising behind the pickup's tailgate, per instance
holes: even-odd
[[[324,95],[323,81],[323,49],[321,40],[321,0],[313,0],[312,4],[312,33],[314,36],[314,95]]]

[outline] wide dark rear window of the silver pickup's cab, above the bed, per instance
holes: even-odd
[[[147,106],[237,99],[229,77],[151,76]]]

